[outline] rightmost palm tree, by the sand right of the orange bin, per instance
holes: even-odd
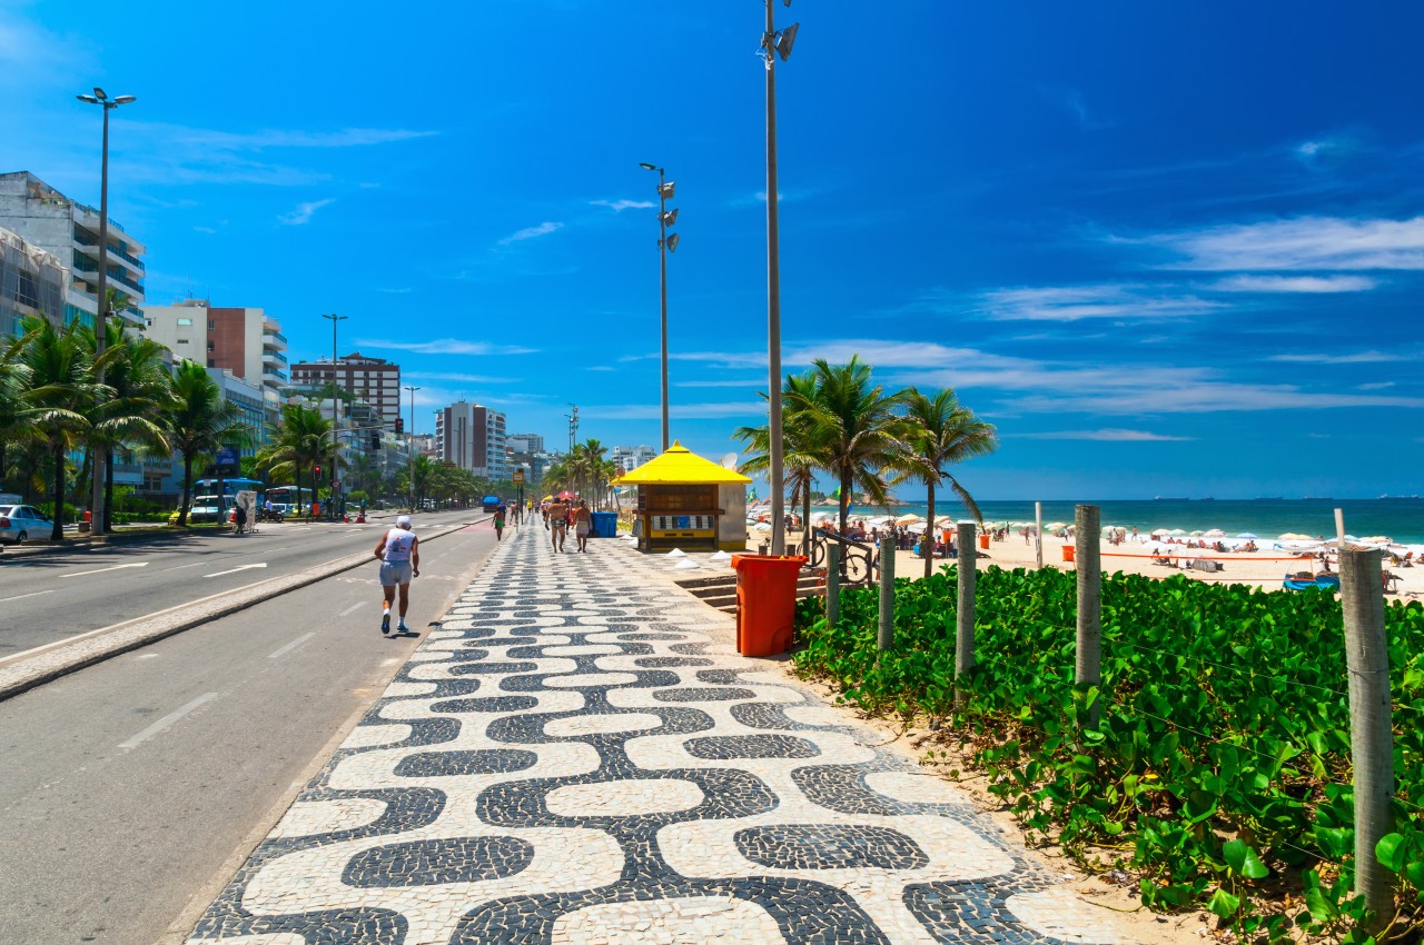
[[[917,480],[928,490],[926,497],[928,534],[924,541],[930,548],[930,554],[924,555],[924,576],[928,578],[934,571],[934,544],[928,535],[933,535],[934,528],[936,487],[948,482],[964,508],[977,522],[984,524],[974,497],[944,467],[993,453],[998,445],[998,437],[993,424],[981,421],[973,410],[960,406],[948,387],[934,391],[933,396],[910,387],[900,397],[906,406],[906,420],[910,423],[904,444],[907,455],[900,480]]]

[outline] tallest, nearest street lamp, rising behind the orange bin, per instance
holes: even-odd
[[[778,31],[772,0],[766,3],[766,31],[760,57],[766,63],[766,361],[769,394],[768,434],[770,440],[772,554],[786,554],[786,495],[782,472],[782,276],[776,231],[776,58],[785,63],[796,43],[799,23]],[[792,0],[785,0],[792,6]]]

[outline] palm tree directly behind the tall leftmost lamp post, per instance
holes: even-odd
[[[122,306],[121,306],[122,307]],[[94,407],[90,445],[104,448],[104,524],[112,529],[114,453],[127,445],[147,447],[167,454],[168,431],[161,420],[172,407],[172,389],[162,367],[164,347],[152,339],[125,336],[118,319],[107,323],[104,354],[105,398]],[[93,356],[94,333],[84,330]]]

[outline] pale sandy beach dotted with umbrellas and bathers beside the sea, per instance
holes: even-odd
[[[766,538],[765,532],[748,532],[748,549],[755,551]],[[800,534],[792,532],[787,545],[799,544]],[[1064,545],[1071,545],[1071,541],[1065,541],[1055,535],[1044,535],[1044,566],[1045,568],[1059,568],[1062,571],[1072,571],[1072,562],[1064,561]],[[1215,584],[1245,584],[1253,588],[1265,588],[1267,591],[1280,591],[1282,579],[1286,574],[1296,571],[1317,571],[1319,561],[1292,558],[1292,552],[1273,549],[1270,541],[1259,542],[1262,545],[1260,551],[1243,552],[1243,551],[1203,551],[1186,547],[1172,547],[1172,555],[1180,556],[1200,556],[1210,558],[1220,562],[1222,569],[1215,574],[1208,574],[1196,569],[1185,569],[1185,561],[1178,558],[1175,566],[1168,566],[1156,564],[1155,555],[1149,548],[1156,547],[1156,542],[1135,542],[1124,541],[1121,545],[1114,545],[1104,539],[1099,542],[1102,554],[1102,572],[1115,574],[1118,571],[1124,574],[1141,574],[1149,578],[1169,578],[1172,575],[1186,575],[1192,581],[1206,581]],[[980,558],[980,568],[998,566],[998,568],[1034,568],[1037,566],[1035,547],[1032,539],[1028,544],[1018,534],[1011,532],[1004,541],[990,541],[990,547],[983,551],[984,555]],[[953,559],[950,559],[953,562]],[[936,561],[936,568],[946,564],[944,559]],[[1398,578],[1397,582],[1391,582],[1391,591],[1387,593],[1387,599],[1391,601],[1410,601],[1424,598],[1424,566],[1413,568],[1398,568],[1391,566],[1388,559],[1386,559],[1384,569]],[[924,559],[911,551],[896,552],[896,576],[897,578],[920,578],[924,575]]]

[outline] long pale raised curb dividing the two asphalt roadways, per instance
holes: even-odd
[[[461,522],[422,541],[434,541],[451,535],[457,531],[476,525],[483,519]],[[335,558],[325,564],[308,568],[285,578],[269,578],[256,584],[249,584],[232,591],[224,591],[189,601],[178,606],[150,613],[134,621],[125,621],[112,626],[100,628],[81,635],[78,639],[58,640],[56,643],[27,650],[34,653],[27,659],[7,665],[0,659],[0,702],[19,696],[44,683],[54,682],[63,676],[78,672],[87,666],[94,666],[114,656],[121,656],[131,650],[157,643],[158,640],[202,626],[209,621],[216,621],[239,611],[245,611],[255,603],[262,603],[299,588],[325,581],[326,578],[352,571],[372,561],[369,551],[357,552],[345,558]],[[204,606],[209,605],[209,606]],[[43,650],[43,652],[37,652]],[[16,656],[24,656],[17,653]],[[13,656],[10,659],[14,659]]]

